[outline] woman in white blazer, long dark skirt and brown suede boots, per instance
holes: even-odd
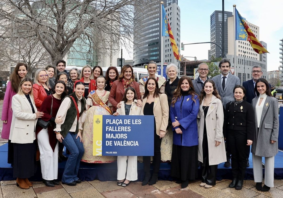
[[[18,93],[12,97],[12,124],[9,140],[14,143],[14,177],[17,186],[28,189],[33,185],[28,180],[36,171],[35,125],[43,112],[37,112],[30,78],[22,79]]]

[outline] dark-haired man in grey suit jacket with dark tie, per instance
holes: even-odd
[[[234,101],[233,89],[236,85],[240,84],[240,79],[237,76],[234,76],[231,73],[229,73],[231,67],[231,63],[229,59],[223,58],[219,62],[218,67],[221,71],[221,74],[213,77],[212,80],[215,82],[216,89],[218,90],[218,93],[221,97],[223,109],[225,109],[227,103],[230,103],[230,101]],[[226,147],[227,162],[224,163],[224,166],[230,167],[231,153],[227,141],[226,144],[227,144]]]

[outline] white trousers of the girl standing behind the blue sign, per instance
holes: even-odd
[[[135,181],[138,179],[137,158],[137,156],[117,156],[117,180],[126,178],[129,181]]]

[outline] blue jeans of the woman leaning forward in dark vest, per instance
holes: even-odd
[[[77,177],[80,162],[85,152],[83,143],[80,142],[80,138],[76,139],[77,134],[74,132],[68,132],[67,136],[62,141],[63,145],[70,151],[70,156],[66,162],[66,166],[62,176],[62,182],[69,184],[78,180]]]

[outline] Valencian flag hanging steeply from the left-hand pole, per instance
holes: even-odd
[[[181,61],[180,55],[179,55],[179,50],[177,47],[177,44],[175,42],[173,33],[171,31],[170,23],[168,21],[164,6],[162,4],[162,36],[169,36],[170,37],[170,42],[171,42],[171,47],[173,50],[173,54],[177,60]]]

